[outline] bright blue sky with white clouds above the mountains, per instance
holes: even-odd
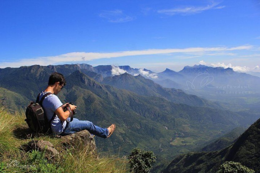
[[[0,68],[186,65],[260,72],[260,1],[0,0]]]

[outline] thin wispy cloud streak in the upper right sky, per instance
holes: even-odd
[[[158,13],[166,14],[166,15],[191,15],[196,13],[202,13],[203,11],[210,9],[223,9],[225,6],[218,6],[219,3],[213,2],[211,5],[207,6],[184,6],[172,9],[162,9],[158,10]]]

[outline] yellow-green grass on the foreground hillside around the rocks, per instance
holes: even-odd
[[[114,156],[110,152],[91,154],[88,147],[72,147],[62,150],[58,161],[48,161],[39,151],[25,152],[22,145],[32,140],[50,141],[59,151],[62,149],[61,139],[50,135],[30,135],[24,121],[24,111],[10,113],[5,107],[0,107],[0,172],[129,172],[128,160]],[[36,158],[36,157],[35,157]]]

